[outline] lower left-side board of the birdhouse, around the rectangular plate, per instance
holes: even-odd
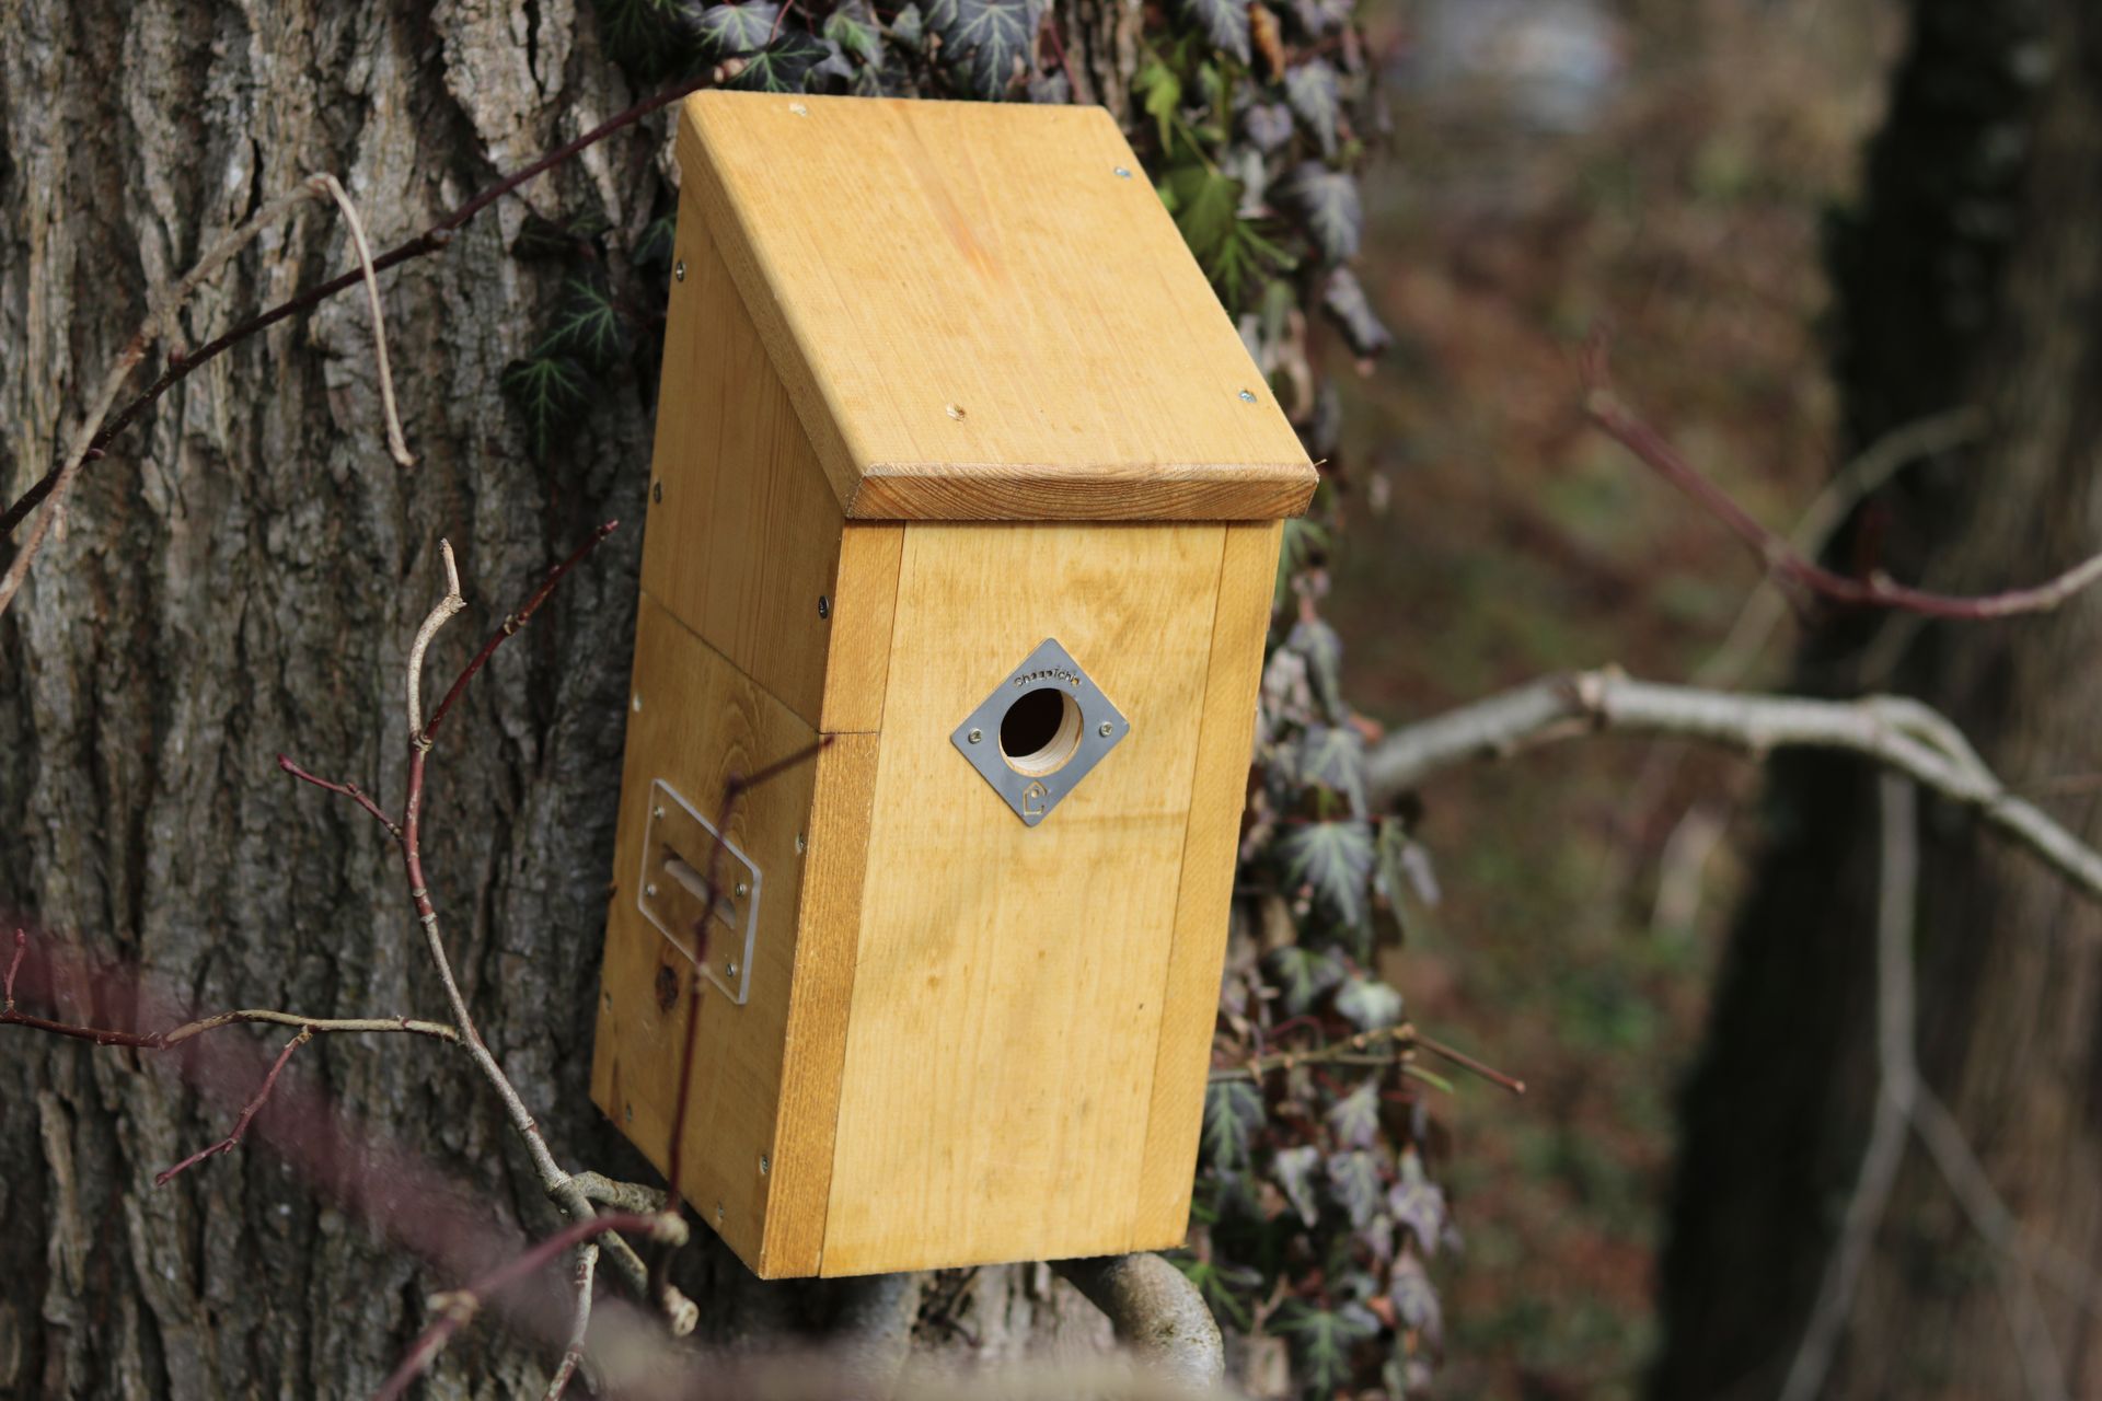
[[[685,1050],[683,989],[694,973],[635,899],[650,788],[664,779],[761,872],[750,998],[738,1006],[708,985],[700,1000],[681,1191],[746,1264],[763,1271],[767,1191],[780,1189],[780,1174],[761,1174],[759,1157],[776,1145],[803,884],[795,842],[811,811],[818,765],[755,786],[727,821],[723,794],[731,775],[805,752],[816,733],[650,594],[635,618],[631,687],[641,706],[628,710],[591,1096],[660,1172],[668,1168]],[[717,962],[725,956],[715,954]]]

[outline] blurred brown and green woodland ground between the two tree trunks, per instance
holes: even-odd
[[[1345,384],[1345,687],[1406,723],[1562,668],[1686,681],[1757,567],[1581,418],[1576,349],[1759,519],[1835,468],[1822,229],[1856,191],[1898,4],[1383,0],[1394,149],[1364,284],[1394,351]],[[1349,380],[1349,376],[1345,376]],[[1778,687],[1793,622],[1738,657]],[[1635,739],[1434,781],[1442,901],[1389,979],[1522,1075],[1440,1103],[1465,1250],[1446,1397],[1642,1390],[1675,1096],[1755,842],[1759,775]]]

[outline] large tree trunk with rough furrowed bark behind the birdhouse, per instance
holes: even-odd
[[[153,290],[263,200],[334,172],[383,248],[633,97],[574,0],[0,0],[0,500],[55,462]],[[397,809],[404,660],[441,592],[439,538],[469,607],[433,647],[435,687],[553,559],[620,517],[448,725],[425,853],[467,1000],[557,1157],[631,1178],[650,1172],[586,1082],[656,351],[605,376],[544,460],[498,378],[561,284],[509,252],[528,202],[599,212],[633,246],[673,206],[664,132],[662,118],[622,132],[383,275],[414,468],[387,456],[364,298],[338,296],[120,437],[0,618],[0,912],[21,916],[32,956],[78,947],[195,1010],[444,1019],[393,846],[273,758]],[[193,300],[183,338],[349,263],[338,214],[305,204]],[[63,1010],[116,1017],[116,985]],[[263,1065],[282,1046],[214,1036]],[[288,1075],[469,1187],[490,1222],[557,1227],[462,1057],[317,1038]],[[294,1174],[267,1145],[269,1109],[256,1141],[153,1185],[227,1134],[252,1088],[200,1092],[164,1057],[0,1027],[0,1395],[370,1395],[393,1367],[427,1292],[458,1279]],[[685,1285],[704,1340],[818,1330],[851,1304],[759,1285],[696,1235]],[[923,1327],[929,1344],[990,1355],[1108,1338],[1040,1267],[986,1271],[937,1313],[969,1323]],[[557,1351],[479,1323],[431,1395],[523,1393]]]

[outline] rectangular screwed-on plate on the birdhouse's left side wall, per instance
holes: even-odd
[[[708,909],[710,880],[717,882],[715,909]],[[731,1002],[744,1004],[759,933],[759,867],[664,779],[650,783],[635,905],[689,964]],[[706,933],[708,958],[696,958],[698,933]]]

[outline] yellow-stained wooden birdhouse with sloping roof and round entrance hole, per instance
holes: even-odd
[[[1175,1246],[1314,468],[1101,109],[677,158],[593,1096],[763,1277]]]

